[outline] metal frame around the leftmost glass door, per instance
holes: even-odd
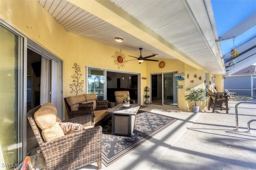
[[[24,159],[24,156],[26,156],[26,140],[24,140],[24,137],[26,137],[26,131],[24,131],[24,127],[26,126],[26,118],[24,116],[24,110],[26,110],[26,104],[24,104],[24,98],[26,98],[26,92],[24,92],[25,88],[24,85],[26,85],[26,80],[24,79],[24,72],[26,72],[26,69],[24,69],[24,63],[26,63],[26,37],[17,31],[16,29],[12,28],[10,25],[5,23],[0,19],[0,25],[16,35],[16,78],[15,78],[15,84],[16,84],[16,104],[15,104],[15,110],[16,113],[16,141],[14,143],[14,147],[16,149],[15,154],[15,161],[13,165],[19,164]],[[12,164],[12,162],[5,162],[9,163],[9,165]],[[8,168],[8,167],[6,167]]]

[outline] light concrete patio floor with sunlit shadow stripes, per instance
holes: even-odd
[[[178,119],[152,139],[102,170],[254,170],[256,169],[256,104],[238,106],[229,101],[229,113],[184,112],[172,107],[148,105],[142,110]],[[251,101],[250,101],[251,102]],[[255,100],[253,102],[256,102]],[[95,170],[96,163],[79,170]]]

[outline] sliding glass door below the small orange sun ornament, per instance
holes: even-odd
[[[151,74],[151,103],[178,107],[176,72]]]

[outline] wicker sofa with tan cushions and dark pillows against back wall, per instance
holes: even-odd
[[[92,122],[96,126],[100,125],[104,119],[110,116],[108,113],[106,113],[106,111],[115,106],[114,102],[108,102],[108,100],[98,100],[96,94],[70,96],[64,98],[64,102],[69,119],[81,115],[91,114]],[[89,103],[92,103],[92,106],[85,105]],[[81,105],[83,107],[81,107]]]

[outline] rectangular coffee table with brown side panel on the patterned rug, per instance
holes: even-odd
[[[112,134],[131,137],[139,108],[139,104],[130,104],[128,108],[123,107],[123,104],[118,104],[106,111],[112,114]]]

